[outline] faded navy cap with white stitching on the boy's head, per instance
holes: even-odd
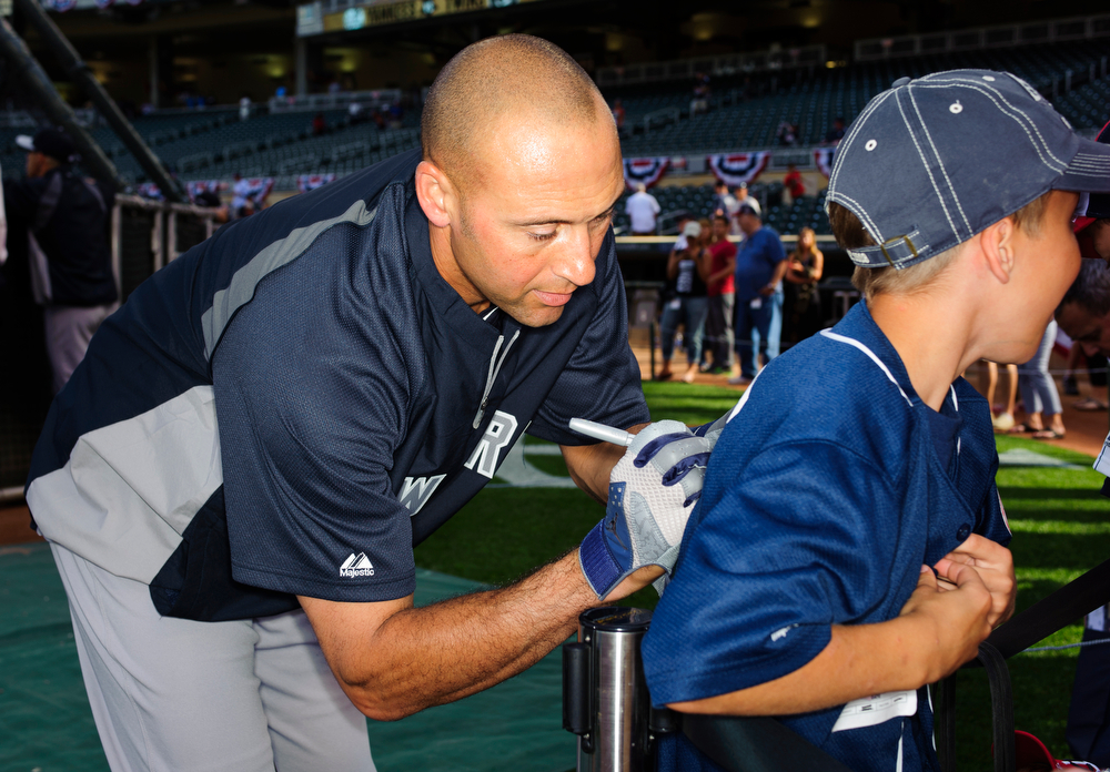
[[[868,102],[837,148],[828,202],[878,245],[848,250],[852,263],[906,268],[1052,190],[1110,193],[1110,145],[1016,75],[951,70]]]

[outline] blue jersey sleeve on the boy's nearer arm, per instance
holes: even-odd
[[[730,460],[726,431],[709,474]],[[656,704],[700,699],[786,676],[829,642],[830,626],[892,607],[891,576],[912,571],[876,522],[897,511],[894,486],[833,443],[771,446],[725,475],[686,529],[675,578],[644,640]],[[878,511],[877,511],[878,510]],[[898,605],[900,608],[900,601]]]

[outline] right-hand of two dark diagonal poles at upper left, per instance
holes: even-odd
[[[81,60],[77,50],[70,44],[65,35],[62,34],[61,30],[54,24],[54,22],[47,16],[46,10],[39,4],[38,0],[16,0],[19,9],[27,17],[27,20],[34,26],[39,35],[42,37],[43,42],[50,48],[53,54],[58,58],[58,63],[61,64],[65,74],[84,92],[92,103],[103,115],[104,120],[115,132],[115,135],[120,138],[124,146],[131,151],[139,165],[142,166],[147,175],[158,185],[162,195],[165,200],[171,203],[188,203],[189,197],[185,195],[184,190],[181,187],[181,183],[170,176],[169,171],[162,165],[161,160],[147,146],[142,138],[139,136],[139,132],[134,130],[131,122],[124,118],[123,113],[120,111],[119,105],[115,104],[115,100],[109,96],[104,87],[93,78],[92,72],[89,67]],[[10,28],[9,28],[10,29]],[[12,33],[14,34],[14,33]],[[17,38],[18,39],[18,38]],[[20,41],[22,43],[22,41]],[[24,51],[26,45],[23,47]],[[30,57],[30,52],[27,53]],[[41,68],[40,68],[41,70]],[[46,74],[43,73],[43,78]],[[48,85],[50,81],[47,80]],[[50,85],[50,90],[53,91],[53,87]],[[57,93],[54,94],[57,96]],[[58,101],[61,101],[60,98]],[[70,111],[72,114],[72,111]],[[75,120],[73,121],[77,124]],[[69,125],[62,124],[67,131],[69,131]],[[71,132],[72,133],[72,132]],[[80,133],[84,134],[83,130]],[[73,134],[74,139],[77,134]],[[103,162],[109,165],[112,170],[113,180],[118,180],[119,175],[115,173],[115,167],[112,163],[104,156],[100,148],[92,141],[91,136],[85,135],[88,142],[92,144],[97,153],[103,159]],[[81,149],[82,155],[84,155],[84,149]]]

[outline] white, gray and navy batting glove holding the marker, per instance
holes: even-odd
[[[683,531],[702,496],[712,445],[677,420],[644,428],[609,475],[605,518],[578,548],[591,589],[604,599],[633,571],[659,566],[663,592],[678,559]]]

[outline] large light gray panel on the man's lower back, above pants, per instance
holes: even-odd
[[[223,485],[211,386],[81,435],[61,469],[27,491],[36,525],[115,576],[144,583]]]

